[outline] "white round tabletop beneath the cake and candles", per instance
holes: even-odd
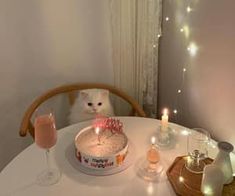
[[[167,177],[155,183],[146,182],[136,174],[138,161],[146,156],[150,138],[156,134],[159,120],[139,117],[119,117],[124,131],[134,144],[135,158],[126,170],[110,176],[90,176],[79,171],[75,158],[74,137],[90,121],[68,126],[58,131],[58,141],[51,151],[51,162],[62,172],[60,181],[49,187],[36,184],[37,175],[46,168],[44,150],[30,145],[16,156],[0,173],[0,195],[2,196],[120,196],[120,195],[175,195]],[[177,156],[187,154],[186,128],[170,123],[176,135],[174,148],[161,150],[161,161],[166,171]],[[215,147],[209,148],[214,158]]]

